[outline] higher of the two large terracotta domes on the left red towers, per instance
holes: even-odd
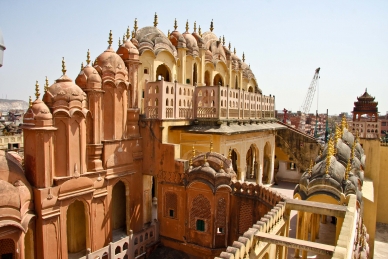
[[[100,74],[103,81],[105,80],[121,80],[128,81],[128,72],[122,58],[112,48],[112,31],[109,32],[109,46],[102,54],[100,54],[96,63],[95,69]]]

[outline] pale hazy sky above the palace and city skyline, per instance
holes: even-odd
[[[246,63],[265,95],[276,96],[276,109],[300,109],[314,71],[321,67],[319,112],[353,109],[365,88],[388,111],[388,1],[0,1],[0,28],[6,50],[0,68],[0,98],[28,100],[35,80],[42,89],[59,78],[65,57],[73,80],[85,62],[114,46],[127,26],[153,25],[165,34],[184,32],[186,20],[202,33],[214,20],[214,33],[225,35],[245,52]],[[311,111],[317,108],[317,93]]]

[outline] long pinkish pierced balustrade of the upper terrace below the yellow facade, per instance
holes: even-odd
[[[161,80],[146,83],[144,113],[147,119],[160,120],[259,120],[275,117],[275,96]]]

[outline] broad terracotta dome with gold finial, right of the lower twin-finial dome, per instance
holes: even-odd
[[[64,59],[62,59],[62,73],[62,76],[48,88],[43,100],[53,114],[59,110],[69,113],[74,109],[82,110],[86,114],[86,94],[66,75]]]

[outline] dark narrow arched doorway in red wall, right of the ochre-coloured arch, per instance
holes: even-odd
[[[126,235],[126,197],[125,184],[118,181],[112,190],[112,235],[113,242]]]

